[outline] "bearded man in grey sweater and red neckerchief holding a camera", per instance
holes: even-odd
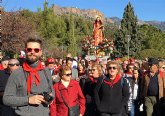
[[[9,77],[3,102],[15,109],[16,116],[49,116],[53,100],[51,74],[43,68],[40,57],[42,42],[29,38],[25,43],[26,61]]]

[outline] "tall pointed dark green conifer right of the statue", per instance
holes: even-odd
[[[129,2],[124,9],[121,29],[115,40],[116,49],[121,57],[126,55],[135,57],[138,51],[141,50],[141,41],[138,39],[137,29],[137,17]]]

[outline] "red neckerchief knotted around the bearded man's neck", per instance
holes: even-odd
[[[29,72],[29,77],[27,77],[27,92],[30,93],[31,86],[33,83],[33,79],[35,79],[35,84],[38,86],[40,84],[40,77],[38,75],[38,71],[43,69],[43,66],[41,62],[39,62],[38,66],[36,68],[31,68],[27,62],[23,63],[23,69],[27,72]],[[33,78],[33,77],[36,78]]]

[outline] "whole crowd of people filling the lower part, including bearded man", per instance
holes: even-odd
[[[1,116],[164,116],[165,61],[41,59],[29,38],[24,60],[3,57]]]

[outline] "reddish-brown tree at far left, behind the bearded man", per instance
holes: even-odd
[[[19,53],[24,42],[33,34],[32,25],[21,15],[21,12],[3,12],[2,47],[11,54]]]

